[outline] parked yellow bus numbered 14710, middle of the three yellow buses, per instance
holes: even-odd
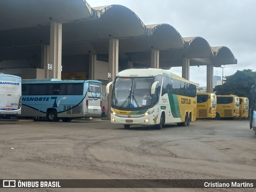
[[[217,95],[216,119],[239,117],[239,97],[236,95]]]

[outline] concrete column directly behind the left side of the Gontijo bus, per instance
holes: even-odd
[[[108,81],[114,81],[115,77],[118,73],[118,54],[119,54],[119,40],[118,39],[110,39],[109,40],[109,52],[108,52],[108,73],[111,73],[111,77],[108,78]],[[112,86],[109,90],[108,95],[108,117],[110,117],[110,109],[111,109],[111,97],[112,95]]]

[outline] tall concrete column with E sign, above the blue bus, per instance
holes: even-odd
[[[50,28],[50,78],[61,79],[62,23],[51,22]]]

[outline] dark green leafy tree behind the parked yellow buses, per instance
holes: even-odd
[[[256,85],[256,72],[251,69],[236,71],[234,75],[226,76],[226,83],[214,88],[216,95],[237,95],[238,97],[250,97],[252,85]]]

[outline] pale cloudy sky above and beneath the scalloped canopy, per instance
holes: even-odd
[[[212,47],[226,46],[237,65],[222,65],[223,76],[237,70],[256,71],[256,1],[255,0],[86,0],[93,7],[119,4],[135,12],[145,25],[166,23],[183,38],[202,37]],[[182,76],[181,67],[172,73]],[[222,76],[214,67],[213,75]],[[224,78],[225,79],[225,78]],[[206,66],[190,67],[190,81],[206,86]]]

